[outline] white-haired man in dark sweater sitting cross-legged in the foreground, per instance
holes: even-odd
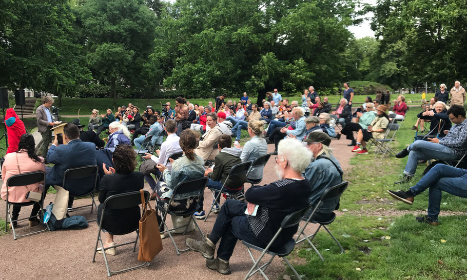
[[[285,216],[309,205],[311,189],[302,172],[311,159],[312,152],[297,139],[282,140],[278,146],[275,167],[279,180],[249,188],[245,192],[248,203],[227,199],[211,233],[200,241],[187,238],[186,245],[206,258],[208,268],[221,274],[230,274],[229,259],[238,239],[264,248],[276,234]],[[248,214],[245,214],[245,210]],[[273,246],[283,246],[297,229],[298,225],[283,229]],[[217,258],[214,258],[219,241]]]

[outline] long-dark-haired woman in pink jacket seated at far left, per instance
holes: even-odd
[[[18,151],[8,153],[5,155],[5,162],[2,166],[3,185],[0,192],[2,199],[7,199],[7,179],[13,175],[23,174],[32,171],[44,171],[44,158],[37,156],[34,153],[35,143],[34,137],[31,134],[23,134],[18,144]],[[21,204],[28,203],[26,194],[28,191],[42,193],[42,184],[33,184],[23,187],[10,187],[8,189],[8,201],[18,203],[19,205],[13,206],[12,221],[17,219],[20,215]],[[35,203],[32,207],[31,216],[29,218],[29,226],[37,226],[40,224],[39,219],[36,217],[41,207]],[[16,226],[16,222],[13,222]],[[11,226],[10,226],[11,227]]]

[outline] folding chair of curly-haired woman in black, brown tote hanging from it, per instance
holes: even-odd
[[[146,202],[149,200],[149,192],[148,191],[144,191],[144,199],[145,199]],[[136,226],[134,228],[132,228],[131,230],[129,230],[129,231],[125,231],[125,232],[123,232],[123,231],[122,232],[108,232],[109,234],[113,234],[113,235],[125,235],[125,234],[129,234],[129,233],[132,233],[132,232],[136,232],[136,239],[134,241],[132,241],[132,242],[127,242],[127,243],[124,243],[124,244],[115,245],[115,246],[112,246],[112,247],[105,248],[105,250],[104,250],[104,243],[102,242],[102,237],[101,237],[102,224],[103,224],[103,221],[104,221],[104,214],[105,214],[106,210],[109,210],[109,209],[111,209],[111,210],[123,210],[123,209],[131,208],[131,207],[134,207],[134,206],[139,206],[140,204],[141,204],[141,192],[140,191],[132,191],[132,192],[114,194],[114,195],[111,195],[111,196],[107,197],[105,199],[105,201],[104,201],[104,207],[102,208],[102,214],[101,214],[101,219],[100,219],[100,223],[99,223],[98,239],[95,242],[94,255],[92,256],[92,262],[95,263],[95,254],[99,251],[98,245],[100,243],[101,244],[101,250],[102,250],[103,255],[104,255],[104,262],[105,262],[105,265],[107,267],[107,276],[111,276],[112,274],[117,274],[117,273],[129,271],[129,270],[132,270],[132,269],[137,269],[137,268],[143,267],[145,265],[147,265],[147,266],[150,265],[150,262],[144,262],[143,264],[140,264],[140,265],[137,265],[137,266],[133,266],[133,267],[117,270],[117,271],[112,271],[110,269],[110,267],[109,267],[109,262],[107,261],[107,256],[105,254],[105,250],[107,250],[107,249],[116,248],[116,247],[120,247],[120,246],[124,246],[124,245],[128,245],[128,244],[133,244],[133,243],[134,243],[134,247],[133,247],[133,252],[134,252],[136,250],[136,245],[138,244],[138,238],[139,238],[139,223],[138,222],[135,223]]]

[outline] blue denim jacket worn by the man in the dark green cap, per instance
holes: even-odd
[[[326,157],[326,158],[323,158]],[[326,188],[336,186],[337,184],[342,183],[342,178],[339,171],[336,169],[334,164],[329,161],[333,161],[342,172],[342,168],[339,165],[337,159],[330,155],[327,157],[322,154],[321,158],[314,159],[308,167],[305,169],[303,176],[310,181],[310,188],[312,189],[312,194],[309,197],[309,202],[316,204],[321,197],[321,194]],[[339,199],[335,201],[328,201],[321,204],[318,212],[320,213],[331,213],[336,209]],[[315,205],[316,206],[316,205]],[[313,211],[313,210],[312,210]]]

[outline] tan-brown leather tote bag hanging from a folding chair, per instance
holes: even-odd
[[[157,212],[153,210],[151,204],[146,209],[144,192],[141,192],[141,203],[143,204],[143,216],[140,219],[140,250],[138,261],[150,262],[160,251],[162,251],[162,239],[157,222]]]

